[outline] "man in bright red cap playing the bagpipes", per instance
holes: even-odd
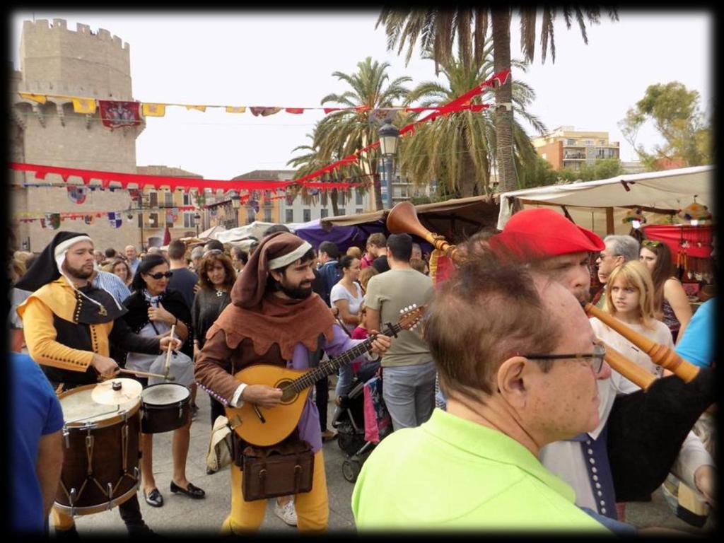
[[[589,298],[592,257],[605,249],[594,232],[550,209],[519,211],[500,234],[489,238],[489,246],[528,262],[581,302]],[[647,392],[630,395],[617,396],[611,379],[599,380],[598,387],[599,426],[541,451],[544,466],[576,489],[578,505],[616,518],[616,501],[648,500],[673,465],[692,486],[712,492],[704,480],[710,479],[711,466],[702,463],[691,447],[682,449],[690,440],[691,426],[715,401],[710,372],[700,373],[690,383],[676,376],[657,379]]]

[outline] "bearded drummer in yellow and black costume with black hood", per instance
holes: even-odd
[[[17,308],[28,352],[56,390],[116,375],[119,367],[109,358],[111,344],[149,354],[160,354],[169,345],[180,347],[180,341],[170,337],[159,340],[132,333],[119,319],[126,309],[90,283],[93,271],[93,240],[58,232],[17,283],[33,292]],[[119,505],[119,513],[130,535],[151,533],[136,494]],[[51,516],[56,536],[77,536],[70,515],[53,508]]]

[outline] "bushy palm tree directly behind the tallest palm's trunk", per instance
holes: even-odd
[[[410,101],[422,100],[421,107],[441,106],[489,79],[493,73],[491,46],[484,51],[485,62],[478,67],[466,66],[463,59],[440,62],[447,85],[435,82],[421,83],[409,96]],[[434,59],[432,54],[427,58]],[[513,65],[526,71],[526,65],[513,61]],[[534,101],[535,93],[525,83],[513,85],[513,108],[539,133],[546,128],[540,120],[526,111]],[[481,96],[473,104],[481,103]],[[514,122],[516,167],[533,164],[536,152],[523,127]],[[441,195],[450,197],[473,196],[490,193],[490,171],[495,160],[497,136],[491,116],[486,112],[458,111],[445,118],[426,123],[416,129],[415,135],[403,140],[400,146],[400,169],[416,184],[427,185],[436,179]]]

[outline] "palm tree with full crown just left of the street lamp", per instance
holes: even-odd
[[[334,72],[338,80],[348,83],[350,90],[342,94],[328,94],[321,99],[321,104],[337,104],[340,107],[355,108],[345,111],[334,111],[324,117],[316,127],[315,146],[325,156],[349,156],[360,148],[369,146],[377,139],[377,129],[370,118],[372,112],[400,104],[406,98],[408,89],[403,83],[411,81],[411,77],[397,77],[389,84],[387,69],[390,64],[372,61],[367,57],[358,62],[358,71],[352,75]],[[401,122],[402,114],[397,114],[397,122]],[[361,167],[365,174],[372,177],[374,188],[379,188],[376,152],[360,156]],[[342,172],[345,170],[342,169]],[[382,194],[374,190],[376,209],[382,209]]]

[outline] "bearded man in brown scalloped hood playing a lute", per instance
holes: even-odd
[[[237,277],[231,300],[206,332],[206,343],[195,361],[198,384],[217,400],[240,407],[251,402],[270,409],[282,399],[282,390],[264,384],[240,383],[234,378],[241,369],[256,364],[308,369],[310,354],[321,345],[339,355],[359,342],[350,340],[334,321],[319,295],[312,292],[314,252],[306,241],[289,232],[264,237]],[[376,332],[371,331],[371,334]],[[378,335],[373,353],[384,353],[390,339]],[[241,440],[234,434],[235,440]],[[310,492],[296,494],[295,510],[300,531],[327,528],[329,505],[324,457],[321,451],[319,413],[307,396],[295,432],[284,443],[306,441],[314,453]],[[248,445],[240,442],[235,450]],[[222,525],[226,534],[255,531],[264,521],[266,500],[245,501],[243,473],[231,466],[231,513]]]

